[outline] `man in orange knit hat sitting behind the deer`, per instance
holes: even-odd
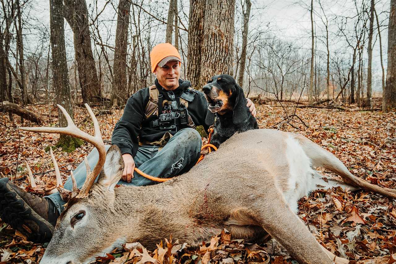
[[[154,184],[137,174],[135,167],[162,178],[187,172],[198,161],[202,145],[194,127],[203,125],[207,130],[213,124],[204,94],[191,89],[189,81],[180,79],[181,58],[176,48],[169,43],[158,44],[150,53],[150,60],[157,77],[155,84],[128,99],[113,131],[112,144],[118,145],[125,163],[119,184]],[[251,101],[247,105],[255,115]],[[95,166],[97,150],[93,149],[87,159],[91,167]],[[77,167],[74,176],[81,187],[86,178],[84,164]],[[64,186],[72,188],[70,178]],[[40,198],[19,189],[8,178],[0,179],[0,199],[2,220],[36,242],[51,239],[65,204],[59,193]]]

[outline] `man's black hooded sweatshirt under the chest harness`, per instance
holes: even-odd
[[[155,84],[160,94],[164,96],[164,99],[169,100],[167,91],[160,86],[157,79],[155,80]],[[190,81],[179,79],[179,87],[173,90],[175,97],[180,97],[184,90],[190,86]],[[132,157],[135,157],[139,146],[138,137],[143,142],[154,142],[160,140],[167,132],[159,128],[150,128],[150,121],[158,119],[157,115],[153,114],[145,120],[145,107],[150,99],[149,89],[149,87],[143,88],[128,99],[124,108],[124,114],[114,127],[111,143],[117,145],[122,154],[129,153]],[[209,126],[213,124],[214,115],[208,110],[207,101],[202,92],[198,91],[198,94],[195,94],[194,100],[188,102],[187,109],[188,114],[196,126],[203,125],[207,131]],[[179,126],[177,131],[186,127]],[[169,131],[169,133],[174,135],[176,132]]]

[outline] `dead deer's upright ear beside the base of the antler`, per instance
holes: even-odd
[[[123,170],[124,159],[122,159],[121,151],[118,146],[112,145],[107,151],[105,165],[101,175],[99,175],[98,184],[113,191],[114,186],[122,176]]]

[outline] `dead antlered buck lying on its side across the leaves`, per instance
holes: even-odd
[[[247,241],[268,233],[301,263],[348,263],[324,249],[295,214],[297,201],[317,189],[316,184],[338,184],[326,184],[312,166],[339,174],[351,186],[396,197],[393,189],[356,178],[333,154],[304,136],[272,129],[235,134],[189,172],[167,182],[115,187],[124,167],[118,147],[105,153],[88,105],[95,137],[78,130],[59,107],[67,128],[21,129],[82,138],[97,147],[100,158],[81,191],[65,196],[67,207],[42,264],[88,263],[134,241],[154,249],[170,235],[198,246],[223,228]]]

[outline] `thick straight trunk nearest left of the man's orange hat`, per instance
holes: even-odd
[[[122,105],[128,100],[127,93],[127,46],[128,46],[128,27],[129,27],[129,10],[131,2],[129,0],[120,0],[118,3],[118,17],[116,29],[116,47],[114,51],[114,79],[112,83],[112,100],[113,106]]]

